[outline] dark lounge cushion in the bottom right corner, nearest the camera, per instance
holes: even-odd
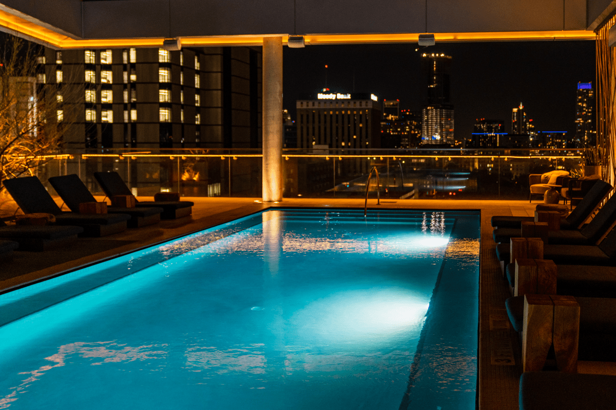
[[[598,410],[614,408],[616,376],[527,372],[520,377],[520,410]]]

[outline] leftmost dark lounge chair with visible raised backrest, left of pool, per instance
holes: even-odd
[[[130,215],[123,213],[104,215],[82,215],[62,212],[36,176],[5,179],[3,181],[9,194],[24,213],[51,213],[56,225],[80,226],[83,232],[79,236],[101,237],[126,230],[126,221]]]

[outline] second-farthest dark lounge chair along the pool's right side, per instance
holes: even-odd
[[[607,200],[597,215],[582,229],[567,231],[549,231],[548,243],[550,245],[596,245],[608,229],[616,222],[616,195]],[[521,229],[496,228],[492,237],[496,243],[507,243],[511,238],[519,238]]]

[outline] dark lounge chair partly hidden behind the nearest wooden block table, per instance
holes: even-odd
[[[579,360],[615,361],[616,299],[582,298],[580,305]],[[520,334],[524,327],[524,296],[505,301],[505,309],[513,329]]]

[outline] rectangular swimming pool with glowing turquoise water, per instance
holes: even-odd
[[[479,213],[269,210],[0,295],[0,408],[472,409]]]

